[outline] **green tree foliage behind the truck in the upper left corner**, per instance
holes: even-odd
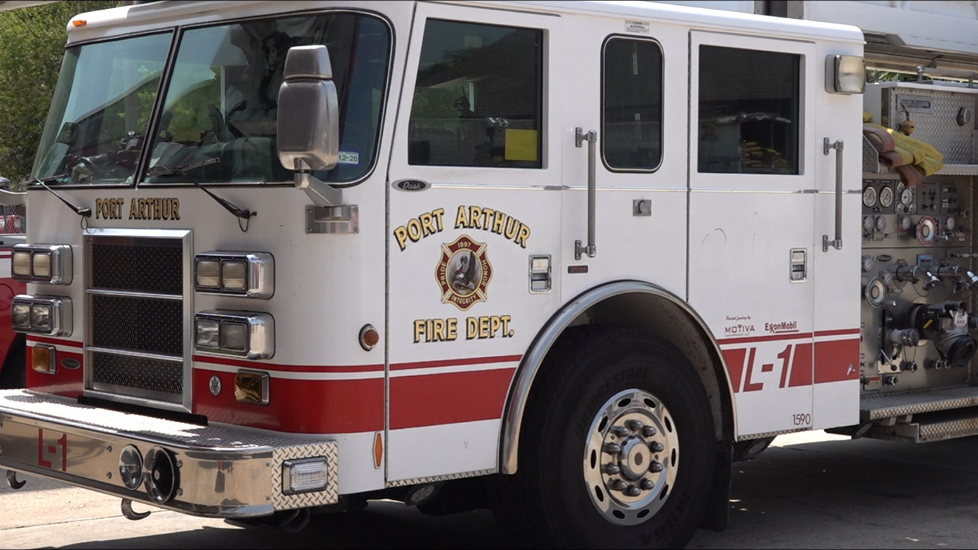
[[[65,56],[67,23],[121,2],[77,0],[0,13],[0,175],[25,179]]]

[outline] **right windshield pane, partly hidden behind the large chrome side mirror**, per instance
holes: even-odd
[[[289,48],[312,44],[329,48],[340,105],[339,163],[316,175],[364,176],[376,153],[390,35],[377,18],[333,13],[186,31],[146,180],[178,182],[185,176],[167,168],[217,159],[190,175],[201,183],[290,181],[276,150],[279,86]]]

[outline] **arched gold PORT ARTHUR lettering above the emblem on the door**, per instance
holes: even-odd
[[[403,252],[408,243],[417,243],[425,237],[445,230],[445,208],[435,208],[408,220],[394,229],[397,247]],[[495,233],[525,249],[530,239],[530,226],[488,206],[459,206],[455,214],[455,229],[480,229]]]

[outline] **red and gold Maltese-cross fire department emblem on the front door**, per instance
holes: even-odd
[[[485,243],[476,243],[463,235],[455,242],[441,246],[441,257],[434,271],[441,289],[441,302],[452,302],[467,311],[486,300],[486,289],[492,279],[492,264],[486,256]]]

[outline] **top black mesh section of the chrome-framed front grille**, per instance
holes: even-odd
[[[92,288],[182,295],[181,241],[96,240],[92,243]]]

